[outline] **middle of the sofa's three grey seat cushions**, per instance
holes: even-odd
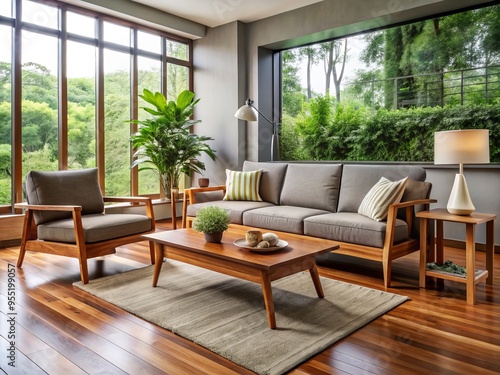
[[[328,211],[296,206],[265,207],[243,214],[243,225],[282,232],[304,234],[304,219]]]

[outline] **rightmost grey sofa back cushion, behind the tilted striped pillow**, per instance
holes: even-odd
[[[385,177],[391,181],[401,180],[405,177],[413,181],[425,181],[426,172],[425,169],[416,165],[345,164],[342,172],[338,211],[358,212],[363,198],[381,177]],[[408,183],[406,189],[411,189],[412,186],[420,188],[419,184]],[[405,190],[401,201],[404,201],[405,195],[406,197],[411,196],[413,199],[428,197],[419,196],[418,192],[406,193]]]

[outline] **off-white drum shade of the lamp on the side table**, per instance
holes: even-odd
[[[434,164],[489,163],[489,132],[487,129],[469,129],[434,133]]]

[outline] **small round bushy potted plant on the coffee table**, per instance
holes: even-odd
[[[228,226],[229,212],[218,206],[203,207],[193,222],[193,229],[203,232],[207,242],[220,242]]]

